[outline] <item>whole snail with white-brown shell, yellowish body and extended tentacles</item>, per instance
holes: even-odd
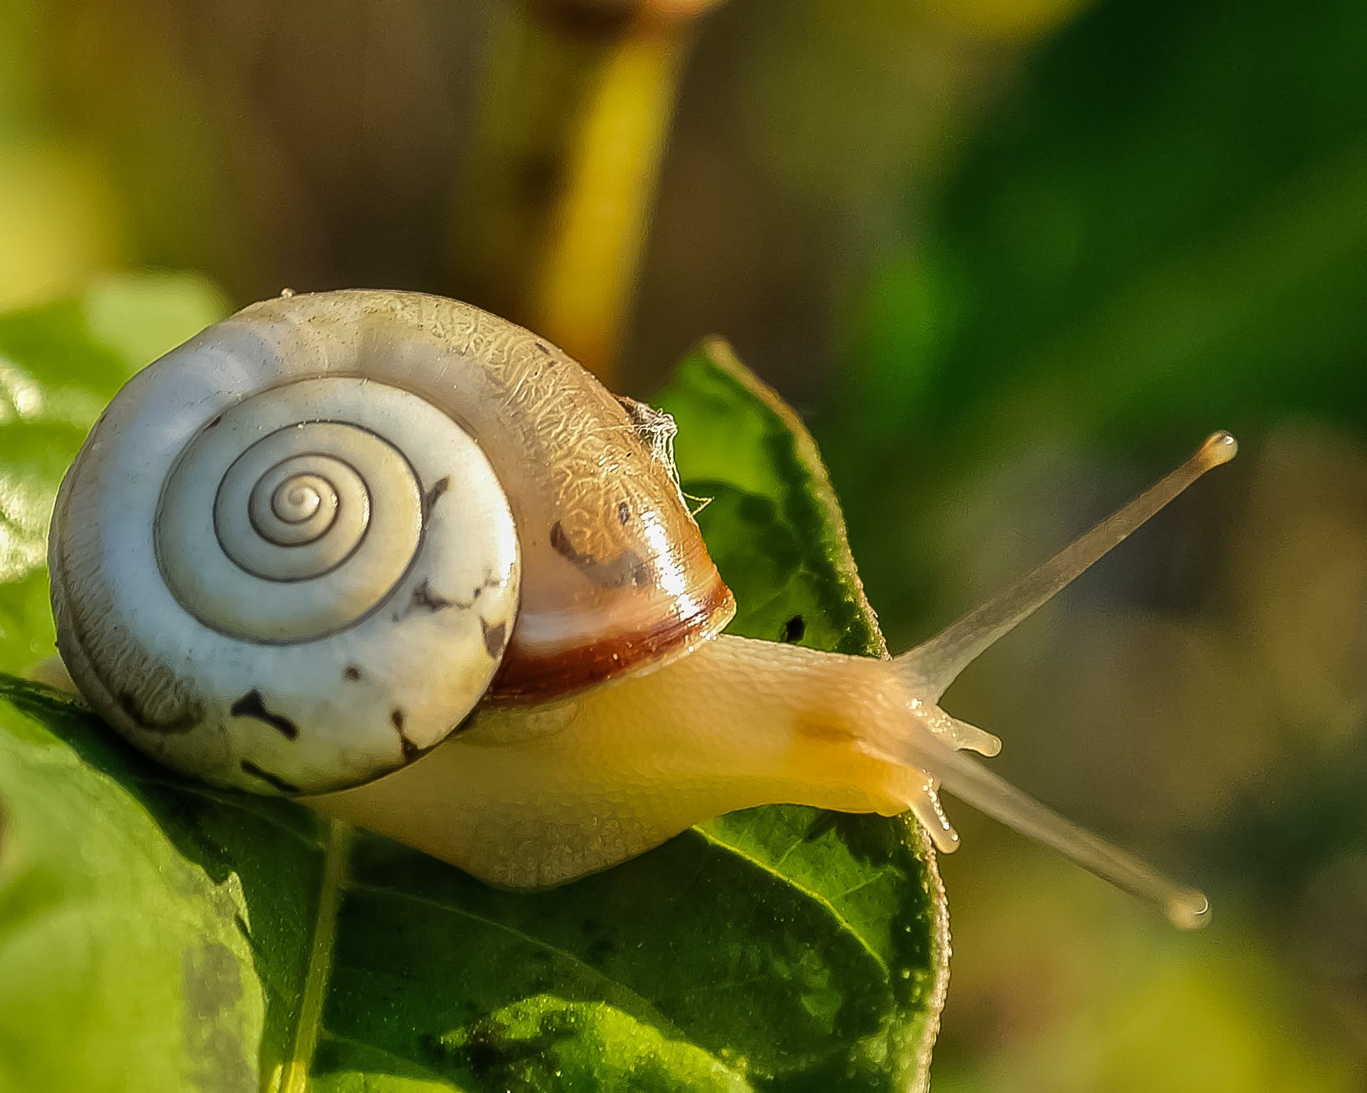
[[[448,299],[284,295],[138,373],[67,473],[49,563],[71,679],[134,746],[298,797],[506,888],[764,803],[938,790],[1199,925],[1204,896],[966,751],[960,671],[1236,451],[1178,470],[898,657],[726,635],[673,422]]]

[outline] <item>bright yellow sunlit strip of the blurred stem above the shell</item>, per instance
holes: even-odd
[[[690,25],[622,37],[584,105],[550,221],[532,325],[608,378],[632,302]]]

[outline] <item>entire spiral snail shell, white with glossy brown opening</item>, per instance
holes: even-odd
[[[662,429],[463,303],[257,303],[135,376],[63,481],[63,660],[175,768],[257,792],[366,783],[480,702],[567,694],[726,626]]]

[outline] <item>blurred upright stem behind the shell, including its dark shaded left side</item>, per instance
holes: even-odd
[[[696,16],[718,0],[509,4],[457,224],[462,292],[604,380]]]

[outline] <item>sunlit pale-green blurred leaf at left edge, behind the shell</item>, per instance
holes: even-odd
[[[0,669],[52,654],[48,521],[86,432],[134,372],[223,310],[198,277],[142,275],[0,316]]]

